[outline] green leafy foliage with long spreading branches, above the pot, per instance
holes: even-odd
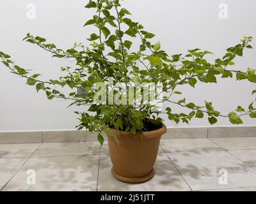
[[[62,50],[52,43],[47,43],[44,38],[35,37],[30,33],[24,38],[24,41],[51,52],[52,57],[76,61],[75,68],[61,68],[65,74],[60,78],[41,80],[40,74],[30,73],[28,69],[16,65],[10,55],[0,52],[1,62],[12,73],[26,78],[27,84],[35,85],[37,92],[45,91],[48,99],[67,99],[71,101],[70,105],[88,106],[88,111],[76,112],[79,115],[77,129],[99,131],[98,140],[102,144],[103,130],[109,131],[109,128],[114,128],[116,131],[132,133],[147,131],[150,130],[148,122],[153,122],[155,126],[163,122],[159,117],[159,114],[163,113],[168,115],[168,119],[177,123],[189,123],[193,118],[202,119],[205,115],[210,124],[215,124],[218,117],[227,117],[232,124],[242,124],[241,117],[244,115],[256,118],[256,108],[253,103],[246,109],[238,106],[234,112],[222,115],[214,109],[212,103],[207,101],[202,106],[188,102],[185,98],[179,101],[173,100],[173,95],[182,94],[177,91],[180,85],[189,84],[195,87],[198,81],[205,84],[217,83],[217,77],[236,77],[237,80],[256,83],[255,69],[244,72],[230,68],[234,66],[237,55],[243,56],[245,48],[252,48],[250,45],[252,37],[244,37],[241,43],[228,48],[222,58],[215,59],[213,62],[205,59],[205,55],[212,55],[212,52],[198,48],[188,50],[187,54],[169,56],[161,49],[159,42],[153,43],[154,34],[145,31],[143,25],[129,18],[131,13],[121,7],[120,0],[91,0],[85,8],[94,9],[95,15],[84,24],[84,27],[97,27],[97,33],[90,34],[86,45],[75,43],[72,48]],[[140,42],[139,47],[134,46],[135,40]],[[120,83],[125,85],[130,82],[161,83],[164,93],[161,101],[182,106],[190,111],[175,113],[170,107],[164,111],[152,111],[154,105],[143,103],[143,98],[139,104],[93,103],[93,98],[99,92],[99,87],[95,84],[108,82],[109,78],[113,78],[113,85],[110,88],[114,95],[120,90],[113,89],[113,86]],[[68,94],[61,92],[63,87],[69,87],[70,92]],[[82,92],[77,93],[76,89]],[[255,93],[256,90],[252,91],[252,94]],[[125,101],[128,100],[128,95],[125,95]],[[159,96],[159,93],[156,96]]]

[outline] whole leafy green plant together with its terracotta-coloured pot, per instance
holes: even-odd
[[[244,48],[252,48],[252,37],[244,37],[241,43],[228,48],[222,58],[212,62],[205,59],[212,52],[198,48],[184,55],[169,56],[159,42],[152,43],[154,34],[129,18],[131,13],[121,7],[120,0],[90,0],[85,7],[94,9],[95,15],[84,26],[97,28],[86,45],[75,43],[72,48],[62,50],[39,36],[28,33],[24,38],[51,52],[52,57],[74,59],[75,68],[61,68],[65,74],[60,78],[41,80],[40,74],[21,68],[10,55],[0,52],[0,57],[12,73],[26,78],[36,91],[45,91],[48,99],[67,99],[70,105],[88,106],[86,112],[76,112],[79,115],[76,128],[98,131],[101,145],[102,132],[107,133],[112,173],[117,179],[142,182],[154,176],[159,141],[166,133],[161,114],[167,114],[168,119],[177,123],[189,123],[204,115],[210,124],[215,124],[218,117],[227,117],[232,124],[242,124],[244,115],[256,117],[253,103],[246,109],[238,106],[234,112],[223,115],[207,101],[202,106],[186,99],[173,99],[173,95],[182,94],[177,91],[180,85],[217,83],[217,77],[256,83],[255,69],[244,72],[230,68],[237,55],[243,56]],[[134,46],[138,42],[139,46]],[[70,92],[61,92],[63,87],[69,87]],[[163,103],[182,106],[189,112],[176,113],[170,107],[162,110]]]

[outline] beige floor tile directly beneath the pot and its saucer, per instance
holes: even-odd
[[[111,175],[108,155],[100,156],[98,191],[190,191],[166,154],[160,153],[154,166],[156,175],[142,184],[127,184]]]

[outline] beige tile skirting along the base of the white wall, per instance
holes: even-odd
[[[106,137],[106,136],[105,136]],[[164,139],[256,137],[256,126],[168,128]],[[82,130],[1,132],[0,143],[95,142],[97,133]]]

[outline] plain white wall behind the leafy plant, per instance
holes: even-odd
[[[26,17],[28,3],[36,5],[36,19]],[[220,19],[219,4],[227,3],[228,18]],[[69,48],[75,41],[84,42],[90,33],[83,28],[92,11],[83,8],[85,0],[0,0],[0,50],[12,55],[15,62],[45,78],[56,78],[60,67],[72,62],[51,59],[51,55],[22,38],[30,32],[47,38],[60,48]],[[124,6],[134,20],[145,25],[147,31],[157,34],[157,40],[170,55],[199,47],[221,57],[225,48],[236,45],[243,37],[256,37],[255,0],[124,0]],[[253,42],[256,47],[255,41]],[[237,68],[256,67],[256,50],[246,51],[244,58],[237,58]],[[74,108],[66,108],[66,101],[48,101],[44,93],[36,94],[35,87],[9,73],[0,65],[0,131],[27,131],[42,129],[74,129],[77,120]],[[203,84],[196,89],[184,87],[189,101],[204,105],[212,101],[217,110],[227,113],[237,105],[248,106],[253,101],[251,92],[256,88],[249,82],[219,80],[218,85]],[[180,108],[173,106],[173,110]],[[82,110],[83,108],[79,108]],[[166,120],[169,127],[176,126]],[[256,121],[244,119],[244,125]],[[229,126],[227,119],[220,119],[216,126]],[[186,126],[180,124],[179,126]],[[209,126],[207,119],[195,119],[190,126]]]

